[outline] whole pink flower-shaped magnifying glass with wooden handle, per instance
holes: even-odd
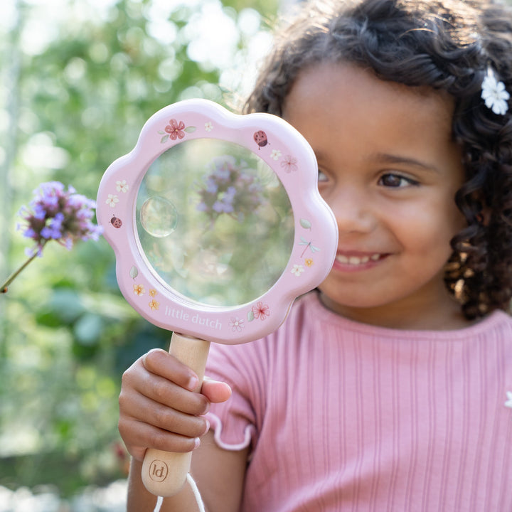
[[[208,100],[164,107],[100,183],[97,220],[134,309],[173,331],[170,352],[204,375],[210,342],[270,334],[336,255],[336,219],[306,139],[271,114]],[[191,454],[146,452],[156,496],[183,486]]]

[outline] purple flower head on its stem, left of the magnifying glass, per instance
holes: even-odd
[[[33,192],[34,198],[19,212],[25,223],[18,225],[23,236],[36,242],[36,247],[27,249],[28,256],[42,255],[43,246],[56,240],[68,250],[75,240],[97,240],[102,228],[92,223],[95,201],[76,193],[72,186],[68,190],[59,181],[41,183]]]

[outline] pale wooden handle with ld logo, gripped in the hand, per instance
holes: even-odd
[[[194,390],[199,392],[203,384],[206,360],[210,342],[173,333],[169,353],[181,363],[192,368],[200,384]],[[155,496],[174,496],[185,484],[190,471],[192,452],[172,453],[157,449],[146,450],[142,463],[142,481],[146,489]]]

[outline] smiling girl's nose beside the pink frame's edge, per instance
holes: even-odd
[[[326,198],[338,222],[340,233],[371,233],[377,224],[371,198],[363,191],[347,187]]]

